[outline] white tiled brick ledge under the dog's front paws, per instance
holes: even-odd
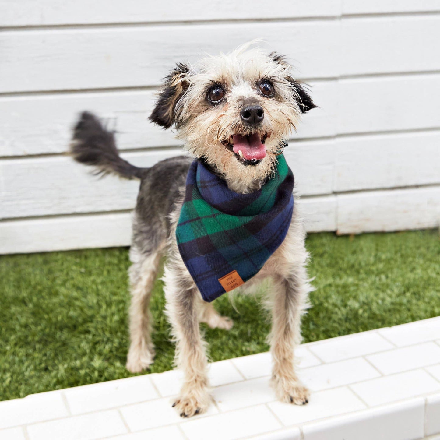
[[[182,419],[177,370],[0,402],[0,440],[440,440],[440,317],[303,344],[304,407],[275,400],[271,359],[212,363],[215,403]]]

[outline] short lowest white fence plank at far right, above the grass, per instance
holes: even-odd
[[[439,225],[440,186],[337,195],[338,234]]]

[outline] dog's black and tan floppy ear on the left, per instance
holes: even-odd
[[[186,79],[189,72],[188,66],[178,63],[164,78],[156,106],[149,117],[150,121],[163,128],[170,128],[176,124],[176,106],[189,87]]]

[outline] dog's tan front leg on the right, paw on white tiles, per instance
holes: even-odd
[[[310,288],[302,267],[274,281],[271,384],[279,400],[304,405],[309,392],[297,378],[293,350],[301,341],[301,312]]]

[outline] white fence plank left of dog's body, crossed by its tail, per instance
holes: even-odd
[[[163,150],[128,153],[124,158],[138,166],[152,166],[179,154],[180,150]],[[132,209],[139,188],[138,180],[99,178],[92,168],[63,156],[3,161],[0,169],[2,218]]]

